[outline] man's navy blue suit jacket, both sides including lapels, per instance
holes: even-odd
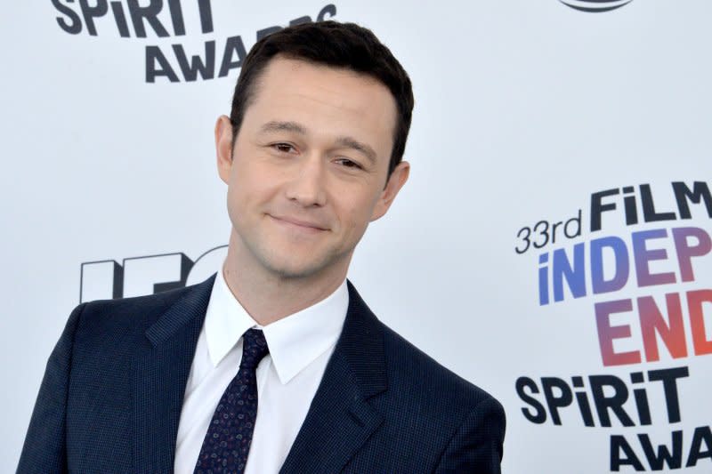
[[[78,306],[47,363],[18,472],[171,472],[213,281]],[[280,472],[498,473],[498,401],[394,333],[348,286],[344,329]]]

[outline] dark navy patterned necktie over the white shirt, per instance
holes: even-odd
[[[238,374],[215,408],[200,448],[195,474],[241,473],[245,470],[257,416],[255,369],[267,352],[263,332],[248,329],[243,335]]]

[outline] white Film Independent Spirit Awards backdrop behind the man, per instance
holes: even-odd
[[[5,7],[0,470],[80,301],[190,285],[230,224],[213,127],[255,41],[355,21],[413,80],[410,181],[350,278],[505,406],[507,473],[712,472],[712,4]]]

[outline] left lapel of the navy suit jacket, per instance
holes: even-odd
[[[134,358],[134,467],[172,472],[185,385],[214,277],[196,285],[146,331]]]

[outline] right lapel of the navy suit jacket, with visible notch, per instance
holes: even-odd
[[[351,282],[344,329],[281,474],[339,472],[383,422],[368,398],[386,390],[383,330]]]

